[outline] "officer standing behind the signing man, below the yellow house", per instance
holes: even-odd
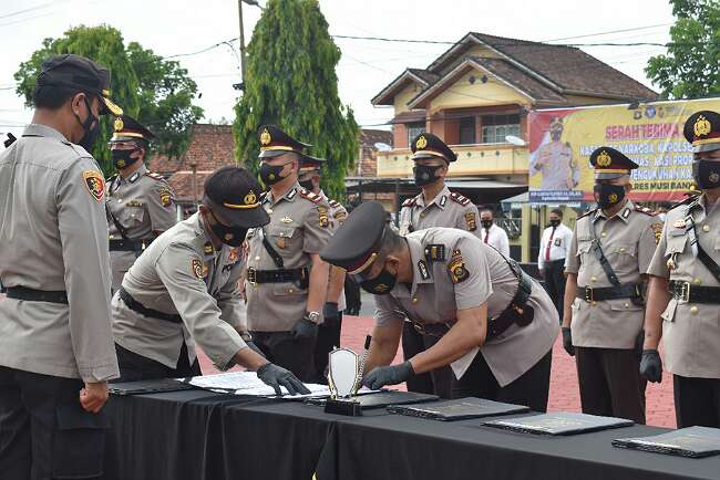
[[[400,210],[400,234],[431,227],[453,227],[477,236],[477,207],[460,194],[451,192],[445,186],[445,176],[457,155],[436,135],[424,132],[418,135],[410,146],[415,185],[422,191],[402,204]],[[402,330],[402,352],[405,359],[412,358],[434,345],[438,336],[423,335],[411,322]],[[452,387],[450,367],[438,368],[408,380],[408,390],[438,394],[449,398]]]

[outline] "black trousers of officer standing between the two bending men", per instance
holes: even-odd
[[[287,368],[301,382],[318,379],[315,371],[315,341],[296,341],[290,332],[250,332],[263,355]]]

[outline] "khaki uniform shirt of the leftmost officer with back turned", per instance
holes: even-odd
[[[44,125],[0,153],[0,281],[64,290],[70,303],[0,300],[0,365],[117,377],[103,184],[93,157]]]

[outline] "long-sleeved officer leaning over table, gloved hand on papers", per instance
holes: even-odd
[[[281,385],[308,393],[290,372],[256,352],[241,324],[241,244],[249,228],[268,222],[259,185],[246,170],[226,166],[204,189],[199,210],[161,234],[113,296],[121,379],[199,375],[197,341],[222,371],[243,365],[277,392]]]

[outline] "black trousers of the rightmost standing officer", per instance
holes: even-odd
[[[720,378],[672,376],[678,428],[720,428]]]

